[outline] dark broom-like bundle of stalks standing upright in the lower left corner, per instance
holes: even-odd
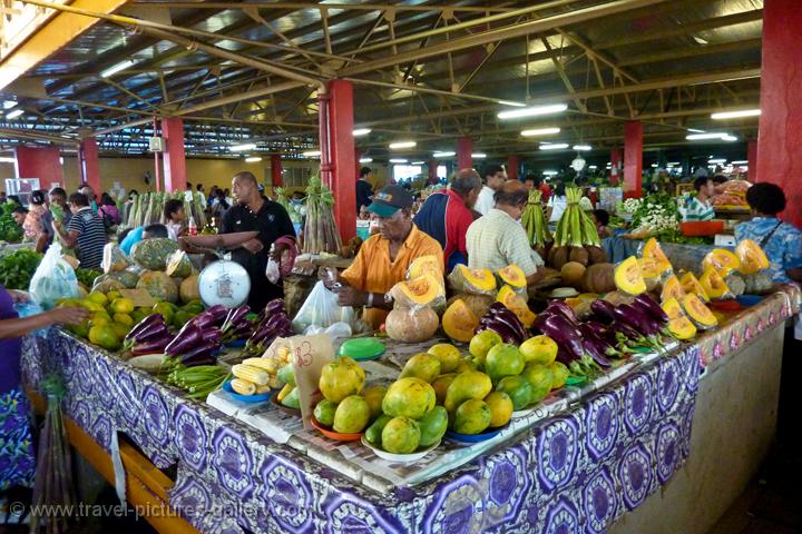
[[[47,395],[48,406],[39,438],[33,482],[29,531],[32,533],[66,532],[69,516],[63,511],[76,504],[70,447],[61,415],[65,390],[63,379],[58,375],[49,375],[42,380],[42,392]]]

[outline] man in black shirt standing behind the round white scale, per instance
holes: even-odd
[[[252,172],[243,171],[234,175],[232,194],[237,204],[223,215],[221,234],[260,233],[256,238],[232,251],[232,259],[245,267],[251,276],[248,305],[254,312],[260,312],[270,300],[284,296],[281,280],[278,285],[271,284],[265,276],[265,267],[267,267],[271,246],[282,237],[295,239],[295,229],[286,210],[280,204],[260,195],[256,177]],[[274,257],[280,258],[281,253],[287,247],[286,243],[275,243]]]

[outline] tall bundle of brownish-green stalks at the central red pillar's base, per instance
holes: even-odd
[[[307,254],[336,254],[342,246],[334,222],[334,197],[319,176],[310,178],[306,188],[306,224],[303,251]]]

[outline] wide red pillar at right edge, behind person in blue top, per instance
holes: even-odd
[[[802,9],[798,0],[763,2],[763,63],[761,117],[757,135],[757,174],[752,181],[772,181],[785,191],[790,209],[784,219],[802,225]],[[752,161],[750,176],[754,177]]]

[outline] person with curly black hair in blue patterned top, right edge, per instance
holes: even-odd
[[[785,209],[785,194],[775,184],[761,181],[746,189],[752,220],[735,226],[735,240],[752,239],[769,257],[774,281],[802,281],[802,231],[777,219]]]

